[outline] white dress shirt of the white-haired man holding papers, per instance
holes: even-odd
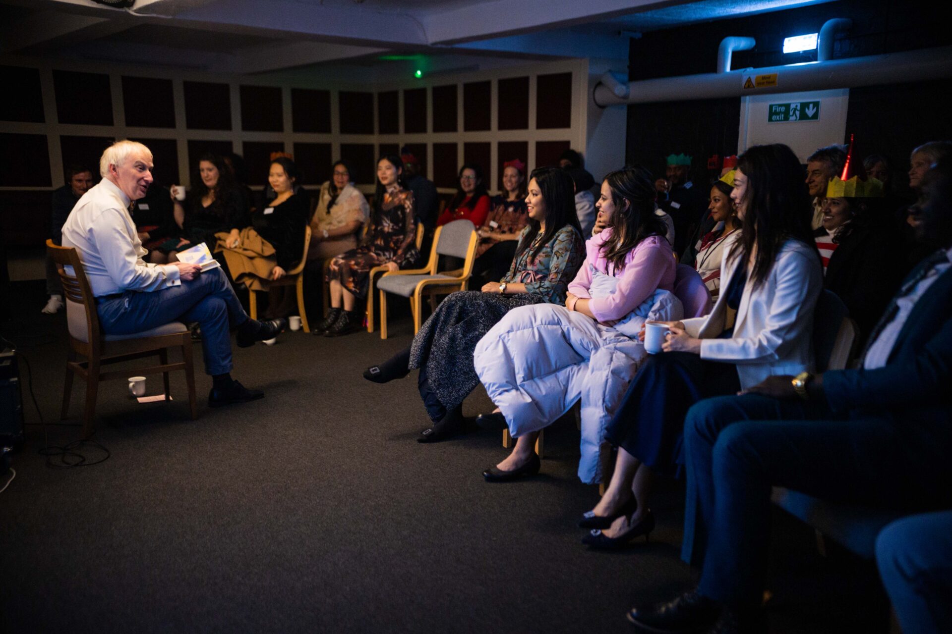
[[[74,247],[83,261],[92,295],[157,291],[181,284],[174,264],[147,264],[148,251],[129,215],[129,197],[103,179],[91,187],[63,225],[63,246]]]

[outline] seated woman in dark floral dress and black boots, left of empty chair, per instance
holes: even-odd
[[[390,271],[412,268],[420,260],[413,220],[413,194],[403,187],[400,176],[404,163],[387,155],[377,162],[377,191],[374,195],[370,229],[361,246],[330,260],[330,311],[317,325],[325,336],[347,335],[361,327],[355,298],[367,298],[370,269],[387,265]]]

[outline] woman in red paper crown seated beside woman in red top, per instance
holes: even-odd
[[[473,262],[473,278],[503,279],[526,227],[526,163],[519,159],[503,163],[503,188],[492,199],[492,211],[479,230],[479,246]]]

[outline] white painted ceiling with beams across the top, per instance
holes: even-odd
[[[0,53],[242,74],[626,61],[637,31],[823,1],[0,0]]]

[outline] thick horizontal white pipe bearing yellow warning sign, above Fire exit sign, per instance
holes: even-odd
[[[744,76],[773,73],[777,73],[777,86],[744,89]],[[595,86],[592,98],[596,105],[605,107],[744,97],[772,92],[901,84],[944,77],[952,77],[952,47],[922,48],[867,57],[841,58],[827,62],[647,79],[630,82],[626,99],[617,97],[604,84],[598,84]]]

